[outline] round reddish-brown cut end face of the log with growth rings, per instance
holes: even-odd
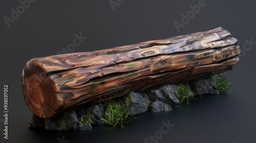
[[[36,60],[27,62],[22,74],[23,96],[29,109],[41,118],[50,118],[58,109],[58,99],[51,95],[54,88],[46,86],[47,72]],[[54,102],[54,107],[50,105]]]

